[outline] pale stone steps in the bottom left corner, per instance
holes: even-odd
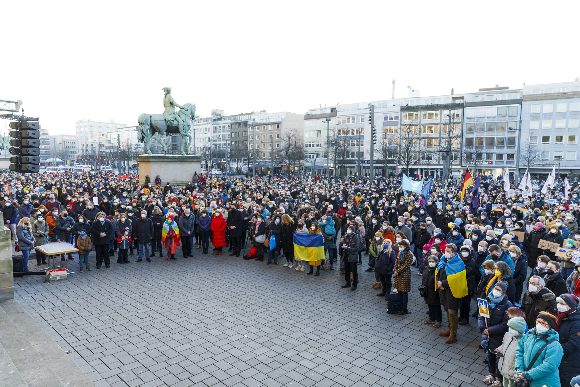
[[[0,302],[0,386],[95,384],[16,300]]]

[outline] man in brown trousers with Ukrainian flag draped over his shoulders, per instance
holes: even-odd
[[[458,309],[461,308],[462,298],[467,292],[467,274],[465,263],[457,254],[457,246],[448,243],[445,246],[445,258],[435,269],[435,290],[443,309],[447,312],[447,331],[439,332],[441,337],[447,337],[446,343],[457,341],[457,327],[459,324]]]

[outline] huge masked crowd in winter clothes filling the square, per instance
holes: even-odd
[[[514,182],[507,196],[491,176],[463,196],[462,182],[463,176],[438,179],[426,196],[401,189],[400,175],[372,181],[202,175],[172,186],[161,176],[141,184],[136,175],[2,173],[0,209],[24,270],[35,247],[57,240],[78,247],[79,272],[91,270],[90,251],[100,269],[115,255],[125,265],[134,254],[140,263],[156,253],[172,261],[194,249],[215,255],[227,249],[230,256],[267,258],[266,265],[284,256],[285,268],[313,277],[338,266],[342,288],[355,291],[364,264],[374,272],[377,296],[392,302],[396,295],[401,315],[409,313],[415,272],[428,313],[423,323],[438,328],[447,316],[447,330],[439,333],[444,342],[457,340],[458,325],[477,323],[486,384],[570,384],[580,375],[578,179],[569,188],[557,179],[544,192],[535,179],[532,197]],[[295,256],[295,233],[321,234],[324,259]],[[556,254],[555,244],[570,254]],[[48,265],[41,252],[36,259]],[[477,298],[487,300],[490,317],[472,308]]]

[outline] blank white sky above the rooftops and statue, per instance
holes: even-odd
[[[0,98],[74,134],[162,113],[164,86],[209,115],[572,81],[579,4],[6,1]]]

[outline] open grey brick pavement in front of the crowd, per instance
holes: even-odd
[[[176,261],[140,263],[133,255],[129,265],[115,256],[100,270],[92,253],[92,272],[48,284],[21,277],[14,290],[99,387],[484,386],[475,319],[447,345],[437,335],[445,321],[422,323],[418,292],[411,314],[387,314],[365,265],[350,291],[338,270],[314,277],[209,253],[183,259],[178,249]],[[413,275],[411,288],[419,282]]]

